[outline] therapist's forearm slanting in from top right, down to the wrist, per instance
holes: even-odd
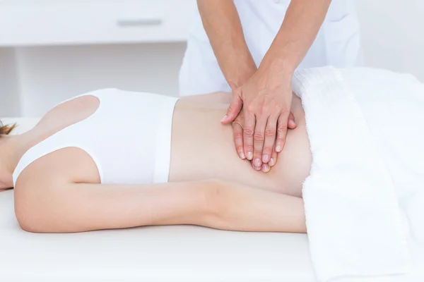
[[[317,37],[330,4],[331,0],[292,0],[259,70],[293,73]]]

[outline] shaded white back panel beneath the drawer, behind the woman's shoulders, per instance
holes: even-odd
[[[21,111],[40,116],[54,104],[100,88],[177,95],[184,43],[18,48]]]

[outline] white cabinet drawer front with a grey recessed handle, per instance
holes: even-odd
[[[179,42],[195,0],[0,1],[0,46]]]

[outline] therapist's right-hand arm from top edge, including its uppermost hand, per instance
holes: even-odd
[[[281,152],[287,134],[292,99],[291,80],[321,27],[331,0],[292,0],[283,24],[258,71],[243,85],[244,149],[254,166],[271,160],[273,148]],[[239,114],[233,103],[223,123]],[[250,159],[248,157],[248,159]]]

